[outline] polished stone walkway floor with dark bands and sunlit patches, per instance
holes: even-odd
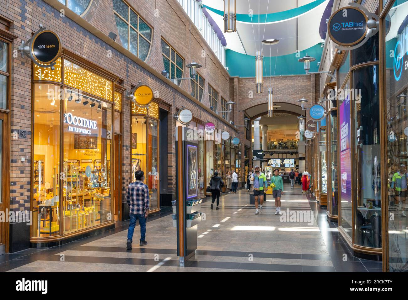
[[[272,195],[263,212],[255,215],[249,192],[224,194],[220,210],[202,204],[205,221],[198,225],[198,249],[180,267],[176,254],[176,228],[171,210],[146,223],[148,245],[140,247],[135,228],[131,251],[126,251],[129,221],[103,234],[58,247],[27,249],[0,256],[0,271],[359,271],[379,272],[381,262],[353,257],[337,225],[327,221],[319,207],[300,186],[285,184],[282,212],[275,215]]]

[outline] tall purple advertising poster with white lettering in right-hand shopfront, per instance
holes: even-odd
[[[340,188],[341,201],[351,203],[350,99],[340,104]]]

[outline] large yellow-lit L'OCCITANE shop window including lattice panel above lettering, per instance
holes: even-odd
[[[33,237],[112,221],[113,83],[67,60],[64,77],[33,84]]]

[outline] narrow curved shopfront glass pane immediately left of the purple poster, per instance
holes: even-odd
[[[330,214],[337,216],[339,214],[338,203],[338,181],[337,181],[337,110],[330,112],[330,163],[331,163],[331,207]],[[328,195],[329,197],[330,195]]]

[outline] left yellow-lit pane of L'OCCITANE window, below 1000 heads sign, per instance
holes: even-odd
[[[60,234],[60,100],[52,96],[59,88],[33,87],[33,237]]]

